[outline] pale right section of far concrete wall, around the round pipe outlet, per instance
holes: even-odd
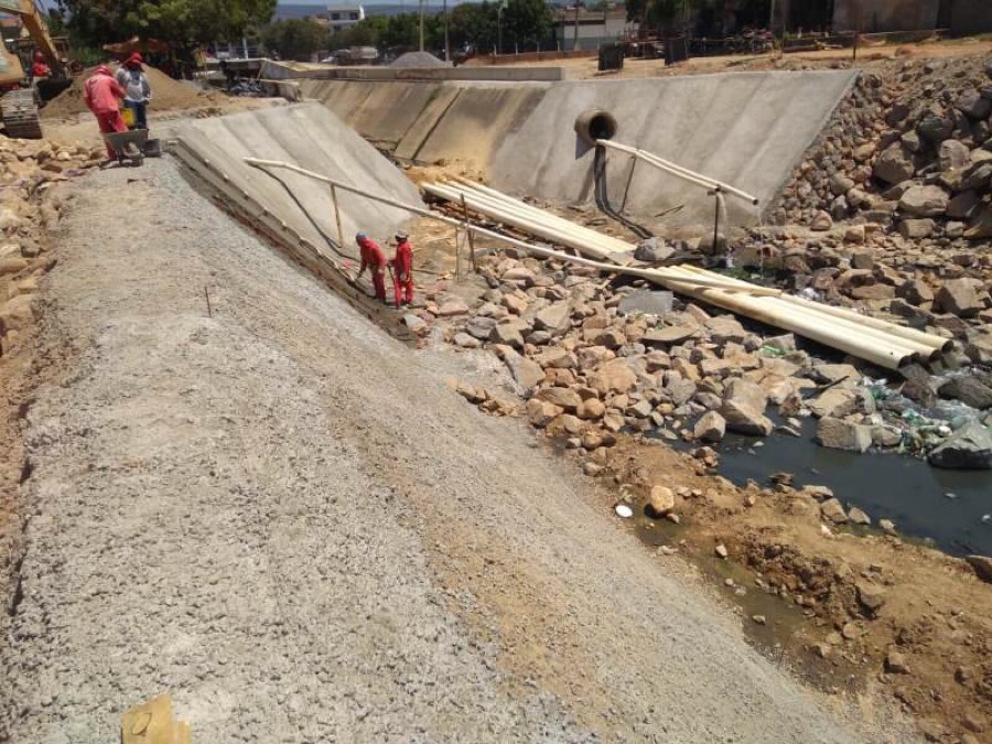
[[[572,131],[591,108],[618,122],[614,140],[772,200],[853,83],[852,72],[729,73],[664,79],[576,82],[552,86],[519,130],[508,133],[489,172],[495,187],[582,203],[593,197],[593,151]],[[630,160],[607,159],[611,201],[618,205]],[[703,188],[639,163],[627,211],[651,216],[683,204],[679,222],[712,222]],[[727,202],[736,224],[754,209]]]

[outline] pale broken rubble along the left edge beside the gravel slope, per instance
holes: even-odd
[[[0,139],[0,356],[17,349],[33,322],[37,278],[52,266],[40,240],[62,207],[52,186],[99,165],[101,157],[82,144]]]

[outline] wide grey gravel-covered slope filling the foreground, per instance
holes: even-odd
[[[198,744],[884,741],[441,381],[486,357],[388,338],[169,160],[73,188],[0,741],[162,691]]]

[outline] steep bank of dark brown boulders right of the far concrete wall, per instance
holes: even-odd
[[[781,192],[770,219],[908,238],[992,237],[992,63],[895,62],[865,73]]]

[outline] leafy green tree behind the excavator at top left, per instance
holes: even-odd
[[[130,36],[179,43],[238,39],[268,23],[277,0],[58,0],[67,26],[100,46]]]

